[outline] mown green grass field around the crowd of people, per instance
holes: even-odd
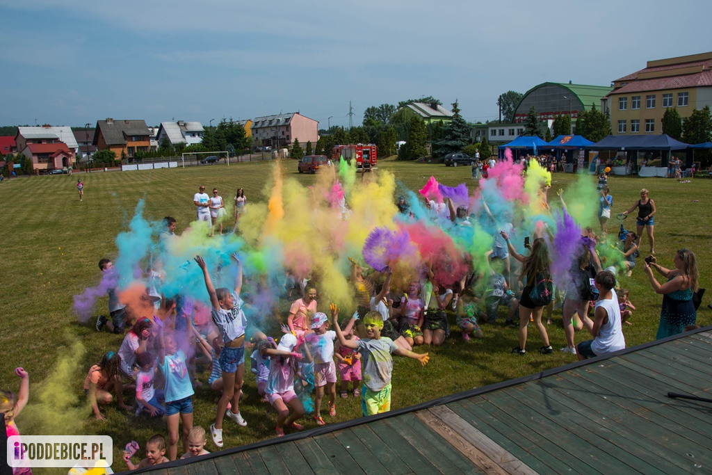
[[[251,202],[265,201],[263,190],[271,176],[269,162],[243,163],[225,167],[190,167],[187,169],[157,169],[142,172],[106,172],[82,174],[85,199],[80,202],[75,189],[77,175],[23,177],[0,183],[0,202],[4,219],[0,228],[0,388],[16,391],[19,378],[14,367],[23,366],[30,373],[30,404],[38,401],[38,383],[56,372],[58,357],[76,349],[71,346],[79,340],[85,348],[75,365],[67,371],[62,389],[83,402],[82,382],[88,367],[98,362],[107,350],[116,350],[121,337],[109,333],[96,333],[94,321],[78,323],[72,311],[72,297],[98,282],[97,262],[104,256],[114,256],[114,239],[125,229],[133,209],[140,198],[146,200],[145,216],[160,219],[175,216],[179,233],[194,218],[192,195],[199,184],[217,187],[224,199],[234,197],[235,190],[243,187]],[[441,183],[454,186],[467,182],[470,167],[444,167],[443,165],[382,161],[379,171],[394,173],[411,189],[422,187],[434,175]],[[315,177],[296,172],[296,163],[286,162],[286,175],[303,184],[315,182]],[[553,188],[565,187],[575,177],[555,174]],[[611,177],[609,186],[614,195],[612,215],[631,206],[646,187],[655,200],[656,251],[659,262],[671,267],[674,251],[689,247],[697,254],[701,273],[701,286],[708,286],[711,250],[708,239],[708,216],[711,207],[712,180],[695,179],[681,184],[671,179],[639,177]],[[634,226],[634,219],[627,220]],[[612,219],[612,227],[617,221]],[[644,242],[642,249],[647,250]],[[624,325],[627,344],[637,345],[654,339],[661,297],[649,286],[647,277],[638,266],[632,278],[622,278],[622,286],[631,291],[632,302],[637,306],[632,322]],[[711,323],[712,310],[705,299],[698,313],[698,323]],[[327,302],[320,301],[325,310]],[[97,313],[106,313],[106,299],[98,303]],[[511,355],[516,345],[516,330],[503,323],[483,327],[486,338],[468,343],[450,338],[441,348],[430,350],[431,362],[424,368],[413,360],[397,359],[394,369],[393,407],[404,407],[493,382],[539,372],[550,367],[572,362],[571,355],[557,351],[553,355],[528,353],[524,357]],[[454,332],[456,333],[456,332]],[[560,310],[554,313],[554,323],[549,329],[554,348],[565,345]],[[578,334],[577,342],[587,339]],[[540,346],[536,331],[530,331],[529,349]],[[423,351],[423,350],[420,350]],[[207,372],[201,378],[206,381]],[[246,399],[241,410],[248,427],[240,428],[231,421],[225,423],[225,447],[254,442],[273,436],[275,415],[270,407],[258,402],[254,377],[246,370]],[[209,389],[199,387],[194,397],[195,423],[207,429],[214,419],[217,397]],[[132,402],[132,399],[130,400]],[[46,409],[52,409],[51,403]],[[360,402],[353,397],[337,400],[336,421],[360,416]],[[81,409],[80,417],[66,427],[68,433],[108,434],[114,438],[115,457],[120,456],[119,446],[132,439],[142,445],[155,432],[165,433],[160,420],[134,419],[115,408],[105,411],[106,422],[95,422],[88,410]],[[20,431],[33,433],[38,421],[24,414],[19,418]],[[325,419],[329,419],[326,417]],[[39,424],[41,425],[41,424]],[[307,427],[315,427],[311,418]],[[209,443],[209,450],[214,446]],[[180,453],[180,451],[179,451]],[[121,461],[115,469],[122,469]]]

